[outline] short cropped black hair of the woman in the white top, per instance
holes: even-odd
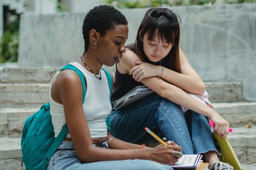
[[[84,40],[84,52],[88,51],[89,47],[89,32],[95,29],[104,36],[106,31],[115,29],[116,25],[127,25],[125,16],[108,5],[100,5],[91,9],[84,17],[82,25],[82,34]]]

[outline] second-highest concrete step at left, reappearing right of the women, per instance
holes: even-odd
[[[241,82],[205,84],[211,102],[235,102],[243,99]],[[0,83],[0,107],[34,107],[47,102],[49,84]]]

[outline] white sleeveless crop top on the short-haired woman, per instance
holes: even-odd
[[[70,63],[77,67],[86,77],[86,98],[83,102],[83,112],[87,119],[91,137],[106,137],[106,117],[111,112],[110,90],[105,71],[100,69],[101,80],[77,62]],[[51,87],[60,71],[56,73],[50,84],[50,113],[54,128],[54,137],[57,137],[62,126],[66,123],[63,105],[55,102],[51,97]],[[70,137],[68,134],[67,137]]]

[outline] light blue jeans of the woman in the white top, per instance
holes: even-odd
[[[50,169],[60,169],[60,170],[173,170],[172,167],[164,164],[160,164],[150,160],[140,160],[140,159],[128,159],[128,160],[117,160],[117,161],[101,161],[92,163],[81,163],[78,156],[74,150],[72,142],[63,141],[58,151],[54,153],[51,157],[48,170]]]

